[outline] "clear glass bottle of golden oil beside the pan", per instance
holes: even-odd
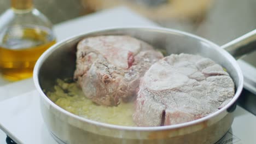
[[[33,8],[32,0],[11,0],[0,16],[0,71],[10,81],[33,75],[34,64],[55,44],[51,22]]]

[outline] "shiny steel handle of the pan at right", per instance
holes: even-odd
[[[256,50],[256,29],[220,47],[228,51],[235,59],[239,59]]]

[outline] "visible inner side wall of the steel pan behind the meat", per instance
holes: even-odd
[[[120,28],[79,35],[62,41],[47,51],[41,61],[38,80],[45,92],[53,91],[56,79],[72,78],[75,70],[75,50],[78,42],[86,37],[97,35],[130,35],[146,41],[166,56],[172,53],[190,53],[211,58],[222,65],[235,82],[236,89],[241,86],[241,75],[237,72],[235,60],[219,46],[205,39],[179,31],[154,28]]]

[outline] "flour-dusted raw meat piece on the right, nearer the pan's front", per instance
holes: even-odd
[[[142,127],[193,121],[221,109],[234,87],[229,74],[209,58],[165,57],[142,77],[133,121]]]

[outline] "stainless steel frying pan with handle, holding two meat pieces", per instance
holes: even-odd
[[[232,112],[243,88],[242,71],[235,58],[255,50],[255,32],[224,46],[193,34],[156,27],[101,29],[63,40],[46,50],[34,67],[33,80],[40,94],[44,122],[59,143],[215,143],[230,129],[234,119]],[[211,58],[228,71],[236,93],[226,106],[206,117],[162,127],[125,127],[74,115],[54,104],[45,92],[53,91],[56,79],[73,76],[78,42],[96,35],[131,35],[165,51],[167,55],[191,53]]]

